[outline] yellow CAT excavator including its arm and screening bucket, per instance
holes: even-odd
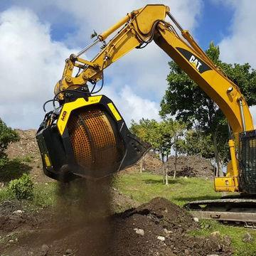
[[[169,21],[165,20],[166,16]],[[106,43],[110,35],[113,36]],[[256,194],[256,132],[245,97],[238,86],[214,65],[191,34],[183,30],[168,6],[146,5],[95,36],[96,40],[89,46],[65,60],[63,76],[55,85],[55,97],[48,101],[53,102],[54,109],[46,114],[36,134],[47,176],[60,181],[77,177],[103,178],[131,166],[149,149],[149,144],[129,132],[114,103],[98,92],[104,84],[105,68],[130,50],[144,48],[154,41],[228,119],[230,162],[227,175],[215,177],[215,191]],[[102,48],[95,58],[81,58],[100,42]],[[73,74],[75,70],[78,70],[76,75]],[[100,80],[100,89],[95,90]],[[247,204],[253,205],[253,200],[247,198],[220,201],[226,206],[235,202],[243,208]],[[201,202],[202,205],[206,203]],[[198,208],[199,204],[191,203],[190,206]],[[255,215],[247,217],[250,218]],[[254,221],[250,219],[249,222]]]

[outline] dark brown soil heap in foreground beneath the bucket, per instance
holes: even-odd
[[[95,206],[99,207],[96,202]],[[197,223],[186,210],[164,198],[110,217],[90,215],[82,223],[75,221],[75,215],[68,219],[65,208],[62,213],[56,218],[48,212],[44,223],[0,252],[14,256],[231,255],[230,247],[220,238],[188,235],[187,230],[198,228]]]

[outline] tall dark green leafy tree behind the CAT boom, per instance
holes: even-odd
[[[210,43],[206,50],[208,57],[233,80],[245,95],[249,106],[256,104],[256,72],[248,63],[228,64],[220,60],[220,49]],[[176,115],[176,119],[186,123],[186,128],[196,128],[210,136],[214,147],[214,157],[219,174],[221,166],[228,158],[224,151],[228,142],[227,121],[219,107],[211,100],[188,75],[173,61],[169,63],[170,73],[167,76],[169,87],[161,100],[161,117]]]

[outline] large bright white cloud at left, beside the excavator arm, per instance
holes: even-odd
[[[50,27],[32,11],[9,9],[0,14],[0,117],[12,127],[37,127],[41,106],[53,87],[70,49],[50,39]]]

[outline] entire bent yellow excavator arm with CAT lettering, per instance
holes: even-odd
[[[171,23],[165,21],[166,15],[171,18]],[[174,25],[178,28],[180,35],[176,32]],[[113,33],[115,36],[108,43],[105,43],[105,40]],[[95,58],[89,61],[80,57],[100,41],[104,44]],[[215,178],[215,190],[239,191],[239,169],[235,148],[238,148],[239,134],[254,129],[249,107],[238,86],[214,65],[193,40],[190,33],[181,28],[174,16],[171,15],[168,6],[147,5],[142,9],[132,11],[114,26],[97,36],[97,39],[90,46],[81,50],[77,55],[70,55],[65,63],[63,77],[55,86],[55,98],[58,98],[61,105],[59,114],[55,113],[58,116],[56,122],[58,131],[61,135],[64,134],[69,122],[69,118],[64,120],[65,113],[71,115],[71,112],[76,109],[67,110],[66,107],[66,105],[73,105],[74,95],[79,95],[83,91],[87,93],[87,96],[90,95],[87,97],[87,102],[97,101],[95,98],[97,96],[92,96],[93,92],[88,90],[88,82],[95,86],[98,81],[104,78],[105,68],[134,48],[142,48],[151,41],[163,49],[206,92],[228,119],[234,135],[229,141],[231,161],[228,164],[228,176]],[[73,75],[75,67],[81,70],[76,76]],[[100,100],[96,103],[99,102]],[[112,104],[112,102],[107,104],[110,103]],[[122,119],[113,104],[112,108],[109,108],[110,114],[114,115],[116,122],[118,122],[118,118],[115,117],[115,114]],[[81,117],[79,118],[81,119]],[[111,129],[110,124],[108,127]],[[71,128],[69,128],[70,130]],[[123,138],[121,138],[122,140]],[[139,141],[138,138],[135,140]],[[147,146],[144,145],[142,154],[146,148]]]

